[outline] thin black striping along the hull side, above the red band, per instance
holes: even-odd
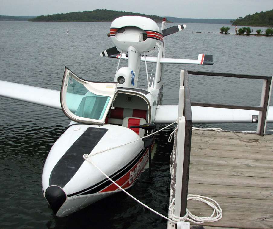
[[[127,165],[125,165],[123,168],[121,168],[120,170],[118,170],[116,173],[114,173],[113,175],[111,175],[109,177],[114,181],[117,181],[118,179],[120,179],[128,171],[130,171],[130,169],[133,168],[133,166],[137,163],[137,161],[140,160],[140,158],[144,155],[144,153],[146,152],[147,149],[148,149],[148,147],[141,150],[140,153],[133,158],[133,160],[131,160]],[[69,194],[67,196],[70,197],[70,196],[74,196],[74,195],[79,196],[79,195],[94,194],[94,193],[97,193],[97,192],[105,189],[106,187],[108,187],[111,184],[112,184],[112,182],[110,180],[108,180],[108,178],[105,178],[104,180],[98,182],[95,185],[92,185],[91,187],[89,187],[87,189],[83,189],[79,192],[75,192],[75,193]]]

